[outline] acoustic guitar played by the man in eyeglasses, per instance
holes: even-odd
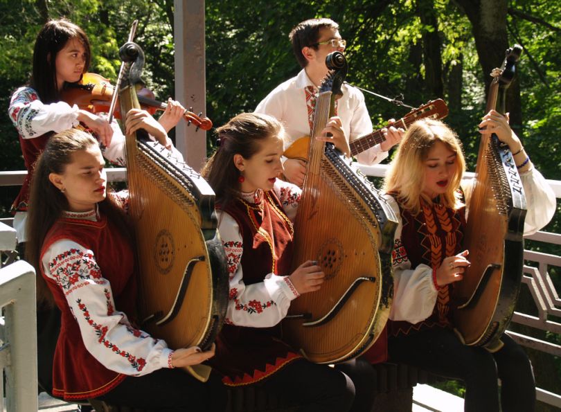
[[[399,120],[396,120],[395,122],[387,125],[386,127],[393,126],[407,129],[409,125],[421,118],[430,117],[443,119],[447,115],[448,107],[444,100],[436,99],[431,100],[425,105],[411,110],[408,114],[406,114]],[[364,136],[356,138],[354,141],[351,141],[349,143],[350,154],[356,156],[357,154],[362,153],[370,149],[371,147],[384,142],[385,140],[386,138],[384,138],[382,129],[377,129],[372,133],[366,134]],[[287,157],[288,159],[308,161],[308,152],[310,152],[310,136],[303,136],[294,141],[289,147],[287,147],[287,150],[285,150],[283,156]]]

